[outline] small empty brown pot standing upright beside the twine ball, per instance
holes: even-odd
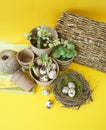
[[[34,53],[31,49],[24,49],[17,53],[17,61],[25,69],[29,69],[29,64],[34,60]]]

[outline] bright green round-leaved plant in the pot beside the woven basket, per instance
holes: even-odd
[[[62,40],[62,45],[55,48],[53,57],[61,60],[67,60],[77,55],[75,45],[68,40]]]

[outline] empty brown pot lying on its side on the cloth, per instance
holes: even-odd
[[[11,81],[25,91],[30,91],[35,86],[35,83],[31,80],[31,78],[21,70],[18,70],[12,76]]]

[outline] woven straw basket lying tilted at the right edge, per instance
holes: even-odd
[[[64,12],[56,30],[61,38],[75,43],[75,62],[106,72],[106,24]]]

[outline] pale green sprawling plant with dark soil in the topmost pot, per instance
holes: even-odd
[[[52,33],[48,30],[45,25],[41,25],[36,28],[37,34],[33,35],[32,33],[25,33],[25,37],[27,40],[32,40],[33,44],[37,48],[48,48],[57,46],[60,44],[59,39],[53,39]]]

